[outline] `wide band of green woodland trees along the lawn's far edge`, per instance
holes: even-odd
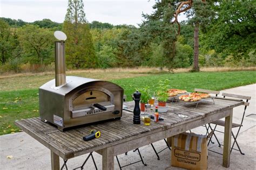
[[[154,8],[166,11],[168,5],[164,3],[159,2],[159,6]],[[199,66],[256,66],[256,21],[252,2],[221,1],[210,5],[213,16],[206,16],[207,24],[200,25]],[[178,38],[173,36],[177,26],[172,26],[169,18],[164,23],[163,19],[169,13],[160,16],[162,14],[145,15],[146,21],[139,28],[97,21],[87,23],[93,42],[90,50],[95,51],[93,60],[86,56],[79,60],[86,64],[75,66],[68,61],[68,68],[191,67],[194,57],[193,22],[197,19],[191,17],[193,10],[187,21],[180,23]],[[21,19],[0,18],[0,73],[53,70],[53,42],[56,40],[53,32],[56,30],[63,30],[63,23],[50,19],[28,23]],[[81,52],[87,47],[84,46]],[[174,51],[170,51],[173,47]],[[172,56],[172,53],[174,56],[170,63],[166,56]],[[72,62],[74,60],[76,62],[76,58]]]

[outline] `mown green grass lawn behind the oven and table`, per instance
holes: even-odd
[[[256,83],[256,71],[158,73],[122,79],[112,79],[110,73],[106,74],[108,74],[108,80],[124,88],[128,101],[132,100],[131,94],[138,87],[149,85],[152,91],[154,91],[157,82],[164,79],[171,80],[172,88],[185,89],[187,91],[193,91],[194,88],[224,90]],[[20,86],[24,84],[26,86],[28,84],[25,80],[22,82],[19,80],[20,78],[14,79],[12,81],[14,85],[10,84],[9,86],[15,86],[15,84],[19,84]],[[2,87],[5,90],[0,91],[0,135],[18,132],[18,127],[14,125],[15,120],[39,116],[38,89],[24,88],[25,90],[21,90],[21,87],[15,91]]]

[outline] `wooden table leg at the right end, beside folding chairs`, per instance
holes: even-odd
[[[230,115],[225,118],[225,134],[223,147],[223,166],[230,167],[230,147],[231,147],[231,132],[232,132],[232,117],[233,109],[230,110]]]

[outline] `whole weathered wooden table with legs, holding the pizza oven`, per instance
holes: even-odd
[[[164,121],[151,121],[150,126],[143,125],[143,121],[140,125],[134,125],[133,113],[127,111],[123,111],[120,120],[95,123],[64,132],[44,123],[40,118],[18,120],[15,124],[51,150],[52,169],[59,169],[59,157],[68,160],[94,151],[103,157],[102,169],[114,169],[115,155],[165,138],[170,142],[173,135],[225,118],[223,166],[229,167],[233,108],[244,102],[215,98],[214,103],[168,103],[169,111],[160,113]],[[133,104],[133,101],[124,103],[132,110]],[[179,118],[173,112],[185,114],[188,118]],[[84,141],[83,137],[90,134],[92,129],[101,132],[100,138]]]

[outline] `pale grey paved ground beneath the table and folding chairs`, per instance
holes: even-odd
[[[247,108],[246,115],[256,114],[256,84],[235,87],[233,89],[224,90],[225,92],[251,96],[250,106]],[[224,92],[222,91],[222,92]],[[241,120],[242,108],[237,107],[233,113],[233,121],[239,122]],[[193,132],[205,133],[205,128],[198,127]],[[241,128],[238,142],[245,155],[241,155],[237,151],[231,154],[230,168],[221,166],[222,156],[213,152],[208,152],[208,169],[255,169],[255,142],[256,142],[256,115],[245,117],[244,126]],[[220,140],[223,141],[221,135],[218,135]],[[163,140],[154,143],[156,149],[160,150],[165,147]],[[211,145],[211,149],[221,151],[217,145]],[[39,142],[31,138],[28,134],[14,133],[0,136],[0,169],[50,169],[50,150]],[[147,166],[143,166],[141,162],[127,166],[123,169],[181,169],[170,166],[170,152],[168,149],[161,152],[160,160],[156,159],[156,155],[150,145],[140,148],[140,152],[144,157]],[[7,159],[6,156],[12,155],[12,159]],[[93,153],[98,168],[102,167],[102,158],[99,154]],[[68,167],[75,168],[80,166],[86,155],[76,157],[68,161]],[[137,152],[128,152],[128,155],[122,154],[118,156],[120,164],[126,165],[133,161],[139,160]],[[60,160],[62,164],[63,160]],[[118,168],[117,161],[115,167]],[[95,169],[92,160],[85,165],[86,169]]]

